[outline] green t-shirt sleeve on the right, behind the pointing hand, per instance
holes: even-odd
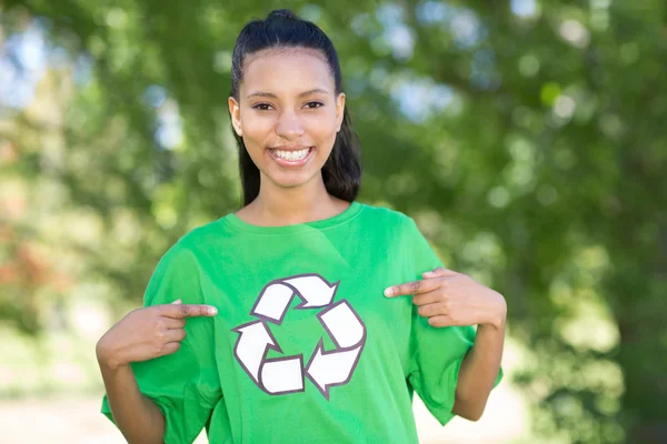
[[[410,279],[422,279],[421,273],[444,266],[412,219],[408,218],[405,231],[404,254],[409,260]],[[435,327],[418,314],[415,305],[411,323],[408,383],[429,412],[445,425],[456,416],[451,410],[458,373],[464,357],[475,343],[476,330],[470,325]],[[494,386],[501,379],[502,369]]]

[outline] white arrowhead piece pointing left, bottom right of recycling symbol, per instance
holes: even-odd
[[[306,367],[306,374],[312,383],[329,400],[329,387],[341,385],[349,381],[357,364],[357,357],[364,344],[351,350],[326,352],[322,340]]]

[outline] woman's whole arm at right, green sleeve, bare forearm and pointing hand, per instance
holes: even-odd
[[[400,254],[409,260],[409,274],[436,266],[385,293],[412,295],[417,309],[414,346],[422,353],[411,359],[409,382],[442,425],[456,415],[476,421],[501,377],[507,303],[470,276],[442,268],[412,220],[405,230]]]

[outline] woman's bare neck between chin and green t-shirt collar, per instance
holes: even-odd
[[[348,205],[327,192],[321,173],[293,188],[278,186],[262,175],[257,199],[237,215],[253,224],[280,226],[332,218]]]

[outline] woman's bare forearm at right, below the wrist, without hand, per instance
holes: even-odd
[[[452,413],[470,421],[481,417],[500,370],[504,342],[505,317],[477,327],[475,345],[459,370]]]

